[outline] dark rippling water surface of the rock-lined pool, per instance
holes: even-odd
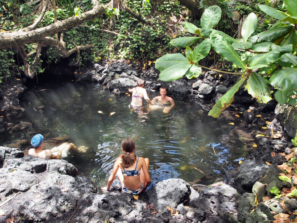
[[[68,161],[101,185],[106,184],[126,137],[135,139],[136,155],[151,160],[154,182],[168,178],[192,182],[214,173],[221,177],[233,169],[243,156],[243,143],[234,138],[225,143],[231,140],[230,120],[209,117],[203,110],[208,105],[198,99],[169,96],[176,103],[169,114],[162,109],[138,114],[128,108],[128,95],[115,95],[100,85],[44,85],[26,92],[21,102],[34,129],[12,138],[31,139],[29,132],[37,129],[48,135],[45,140],[67,134],[75,145],[89,147]]]

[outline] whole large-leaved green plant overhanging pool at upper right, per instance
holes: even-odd
[[[233,63],[239,73],[215,71],[240,75],[241,78],[217,101],[208,115],[219,117],[233,102],[234,94],[244,83],[249,94],[259,103],[267,103],[272,99],[272,85],[276,89],[274,98],[280,104],[295,105],[297,98],[290,95],[296,95],[297,88],[297,56],[296,51],[293,51],[297,45],[297,2],[285,0],[284,3],[289,14],[267,5],[259,5],[263,12],[278,21],[266,31],[252,36],[258,23],[257,15],[252,12],[242,25],[241,39],[234,39],[214,29],[222,15],[221,9],[216,5],[203,12],[200,28],[183,22],[184,28],[195,36],[171,40],[172,45],[186,48],[185,56],[181,53],[166,54],[157,59],[155,67],[161,71],[159,79],[173,81],[184,75],[191,79],[198,77],[202,68],[215,70],[198,63],[213,49],[222,58]],[[198,45],[190,48],[197,42]]]

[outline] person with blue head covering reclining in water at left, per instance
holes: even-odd
[[[34,147],[29,149],[28,154],[31,156],[44,158],[44,159],[59,159],[62,151],[78,151],[78,148],[73,143],[64,142],[62,145],[58,147],[54,147],[51,150],[42,150],[43,146],[43,136],[41,134],[37,134],[32,137],[31,145]],[[57,153],[58,152],[58,153]],[[56,155],[54,154],[56,153]]]

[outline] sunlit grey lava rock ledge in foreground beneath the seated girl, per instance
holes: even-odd
[[[226,184],[199,196],[184,180],[168,179],[137,200],[118,191],[119,181],[102,194],[64,160],[0,147],[0,163],[0,222],[237,222],[240,195]]]

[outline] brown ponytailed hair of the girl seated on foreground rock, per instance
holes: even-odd
[[[120,158],[122,159],[121,165],[125,168],[132,166],[136,160],[136,156],[130,153],[135,149],[135,141],[131,138],[124,139],[122,141],[122,149],[125,153],[120,155]]]

